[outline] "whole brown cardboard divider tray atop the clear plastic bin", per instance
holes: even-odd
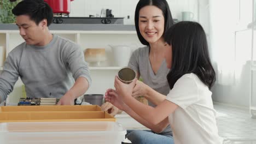
[[[98,105],[1,106],[3,122],[97,122],[115,118]]]

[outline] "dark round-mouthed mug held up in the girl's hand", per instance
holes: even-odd
[[[126,84],[131,83],[136,78],[136,72],[130,67],[123,67],[118,71],[118,79]]]

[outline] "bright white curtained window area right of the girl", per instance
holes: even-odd
[[[210,54],[217,73],[213,100],[249,107],[252,1],[210,0],[210,17]]]

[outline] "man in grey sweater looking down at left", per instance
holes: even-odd
[[[21,77],[27,97],[60,98],[58,105],[74,105],[91,85],[82,49],[51,34],[53,11],[43,0],[21,1],[12,10],[24,43],[13,49],[0,75],[0,102]],[[75,82],[74,82],[75,80]]]

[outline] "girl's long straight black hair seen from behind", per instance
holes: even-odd
[[[172,89],[184,74],[194,73],[211,88],[216,80],[208,52],[205,31],[197,22],[182,21],[173,25],[165,35],[172,45],[172,65],[167,80]]]

